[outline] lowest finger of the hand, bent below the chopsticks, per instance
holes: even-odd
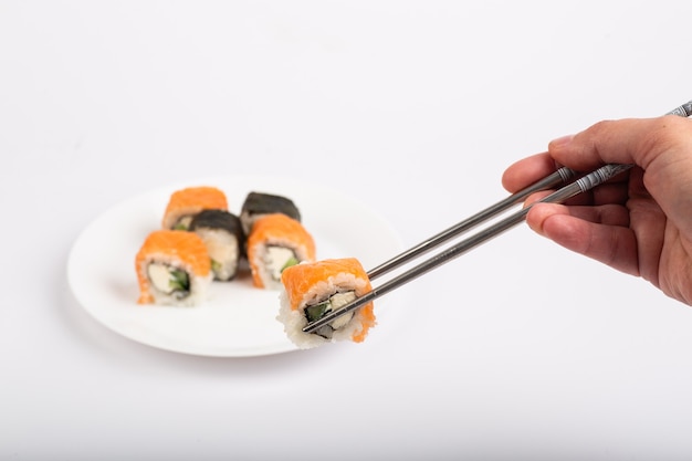
[[[595,210],[591,207],[590,212]],[[618,271],[639,275],[635,233],[626,226],[610,223],[623,221],[619,212],[601,211],[600,216],[591,214],[588,220],[578,216],[584,212],[589,211],[555,203],[536,203],[528,211],[526,222],[539,234],[570,251]]]

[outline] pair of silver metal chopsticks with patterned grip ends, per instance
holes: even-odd
[[[681,117],[690,117],[692,115],[692,101],[689,101],[688,103],[675,107],[674,109],[670,111],[665,115],[678,115]],[[538,202],[551,202],[551,203],[564,202],[565,200],[574,196],[586,192],[587,190],[590,190],[612,179],[619,174],[627,171],[631,167],[632,165],[619,165],[619,164],[605,165],[587,175],[581,176],[574,182],[557,189],[555,192],[544,197]],[[368,277],[370,280],[374,280],[380,275],[391,272],[392,270],[401,266],[402,264],[406,264],[412,261],[415,258],[438,248],[440,244],[451,240],[452,238],[459,237],[462,233],[468,232],[474,227],[507,210],[512,206],[521,203],[530,195],[541,191],[541,190],[548,190],[548,189],[558,187],[560,185],[564,185],[570,179],[577,177],[578,175],[579,174],[577,171],[572,170],[569,168],[566,168],[566,167],[559,168],[557,171],[546,176],[545,178],[528,186],[527,188],[511,195],[504,200],[501,200],[497,203],[492,205],[491,207],[471,216],[470,218],[452,226],[451,228],[431,237],[430,239],[396,255],[389,261],[376,266],[375,269],[368,272]],[[503,232],[512,229],[514,226],[524,221],[524,219],[526,218],[526,213],[528,213],[528,210],[531,209],[531,207],[533,207],[533,205],[526,208],[523,208],[522,210],[513,214],[510,214],[507,218],[504,218],[497,221],[496,223],[478,232],[476,234],[455,243],[454,245],[448,248],[447,250],[439,252],[438,254],[434,254],[432,258],[419,263],[418,265],[411,268],[410,270],[389,280],[388,282],[385,282],[380,286],[374,287],[370,292],[364,294],[363,296],[343,306],[342,308],[337,311],[333,311],[326,314],[324,317],[308,323],[305,327],[303,327],[303,332],[312,333],[318,329],[319,327],[340,317],[342,315],[345,315],[352,311],[355,311],[358,307],[364,306],[365,304],[374,301],[375,298],[382,296],[384,294],[387,294],[391,292],[392,290],[398,289],[399,286],[412,281],[413,279],[417,279],[432,271],[433,269],[439,268],[440,265],[466,253],[473,248],[479,247],[482,243],[485,243],[489,240],[502,234]]]

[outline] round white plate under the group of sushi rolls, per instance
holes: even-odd
[[[133,340],[161,349],[214,357],[250,357],[295,350],[276,321],[279,292],[252,286],[249,273],[213,282],[196,307],[139,305],[135,254],[160,228],[170,193],[189,186],[223,190],[240,213],[248,192],[291,198],[312,233],[317,258],[354,256],[366,270],[401,251],[399,237],[367,207],[334,190],[287,178],[216,177],[171,185],[126,200],[94,220],[75,241],[67,279],[77,302],[96,321]],[[382,302],[376,303],[376,308]]]

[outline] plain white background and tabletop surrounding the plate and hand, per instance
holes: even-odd
[[[0,0],[0,458],[690,459],[692,311],[525,226],[387,295],[365,343],[266,357],[128,340],[65,276],[99,213],[210,174],[329,185],[418,243],[548,140],[692,97],[690,18]]]

